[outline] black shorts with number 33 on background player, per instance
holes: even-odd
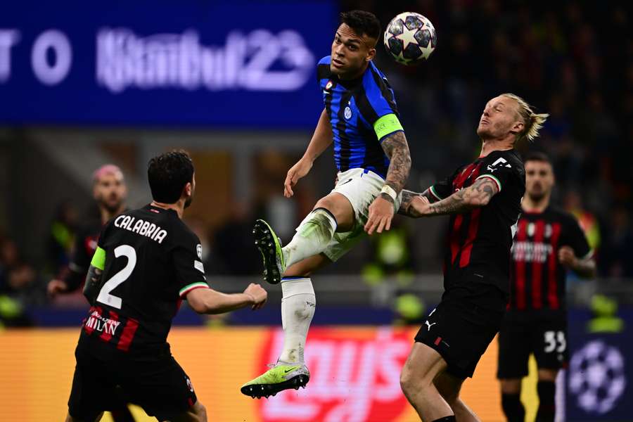
[[[528,376],[528,359],[534,354],[541,369],[558,370],[569,360],[567,319],[564,313],[510,311],[499,331],[497,378]]]

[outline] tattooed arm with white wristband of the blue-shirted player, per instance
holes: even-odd
[[[404,132],[394,132],[383,139],[381,146],[389,157],[389,170],[385,177],[385,186],[380,196],[369,205],[369,217],[365,224],[365,231],[373,234],[373,231],[382,233],[383,229],[391,228],[391,220],[394,215],[393,205],[397,195],[404,188],[411,171],[411,153]]]

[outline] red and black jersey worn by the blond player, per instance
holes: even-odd
[[[518,154],[513,150],[492,151],[459,167],[451,177],[431,186],[430,193],[444,199],[483,177],[492,179],[499,192],[484,207],[451,215],[444,261],[447,291],[473,280],[509,291],[512,227],[525,192],[525,170]]]

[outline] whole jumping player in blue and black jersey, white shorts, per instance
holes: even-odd
[[[310,274],[338,260],[366,234],[390,229],[399,207],[411,157],[393,91],[372,62],[380,35],[381,24],[373,14],[341,13],[331,56],[317,66],[325,108],[307,151],[288,170],[284,195],[293,196],[293,186],[331,143],[338,169],[335,188],[314,205],[284,248],[266,222],[255,224],[264,280],[281,281],[284,344],[276,365],[243,385],[245,395],[275,395],[305,386],[309,371],[303,351],[316,306]]]

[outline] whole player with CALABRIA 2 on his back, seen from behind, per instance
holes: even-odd
[[[258,284],[231,295],[207,285],[200,239],[181,220],[196,190],[188,154],[152,158],[148,180],[152,203],[110,220],[91,260],[84,295],[93,306],[75,351],[68,422],[100,420],[119,396],[159,421],[206,421],[167,343],[181,300],[200,314],[267,300]]]

